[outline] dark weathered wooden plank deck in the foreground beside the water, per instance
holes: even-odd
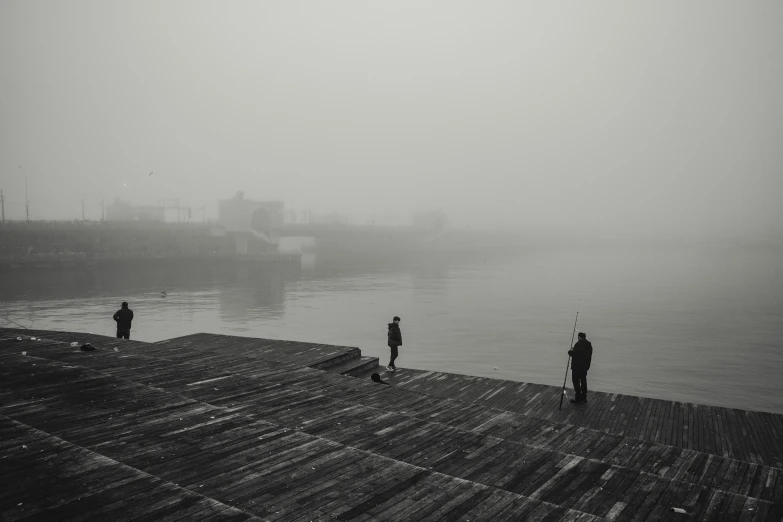
[[[377,364],[0,329],[0,519],[783,519],[783,415]]]

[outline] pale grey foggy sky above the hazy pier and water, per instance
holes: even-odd
[[[781,93],[777,0],[2,0],[0,187],[779,233]]]

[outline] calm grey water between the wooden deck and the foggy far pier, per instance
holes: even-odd
[[[783,413],[780,249],[548,249],[393,270],[39,274],[0,286],[6,325],[112,335],[122,300],[139,340],[291,339],[384,363],[386,323],[400,315],[400,367],[552,385],[578,309],[595,349],[590,388]]]

